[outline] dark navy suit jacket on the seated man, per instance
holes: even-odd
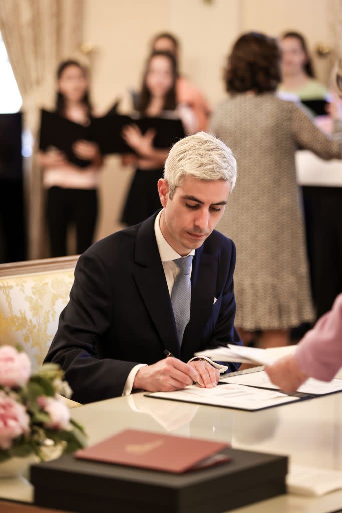
[[[190,321],[179,350],[155,217],[98,241],[77,262],[70,301],[45,359],[61,365],[75,401],[122,395],[131,369],[162,360],[164,349],[187,362],[196,351],[240,343],[234,328],[235,246],[213,231],[195,251]]]

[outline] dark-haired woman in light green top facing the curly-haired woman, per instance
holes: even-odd
[[[306,102],[326,100],[328,90],[315,78],[312,60],[304,36],[298,32],[286,32],[280,38],[280,48],[282,54],[282,81],[278,87],[280,97],[288,94]],[[312,108],[310,110],[312,114],[315,114]]]

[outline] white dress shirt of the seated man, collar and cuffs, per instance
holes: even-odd
[[[170,244],[165,240],[162,230],[160,229],[160,216],[162,215],[162,213],[163,213],[163,210],[160,210],[160,212],[158,213],[158,215],[155,218],[154,233],[155,233],[155,238],[157,241],[157,246],[158,246],[158,250],[159,250],[159,254],[160,254],[160,260],[162,260],[162,263],[163,263],[163,268],[164,268],[165,278],[166,278],[166,282],[167,282],[168,289],[169,289],[169,294],[171,297],[174,282],[175,282],[178,274],[180,273],[180,268],[173,261],[177,260],[178,258],[185,258],[185,257],[188,257],[189,255],[194,255],[195,250],[192,249],[187,255],[185,255],[185,257],[182,257],[182,255],[179,255],[177,253],[177,251],[175,251],[170,246]],[[191,266],[191,270],[190,270],[190,275],[191,275],[191,271],[192,271],[192,266]],[[215,300],[214,300],[214,303],[215,303]],[[205,359],[211,365],[218,368],[222,372],[225,372],[228,368],[228,367],[225,367],[224,365],[219,365],[219,364],[215,364],[214,362],[211,362],[211,360],[209,360],[209,358],[208,359],[205,358]],[[191,359],[191,360],[193,360],[193,359]],[[191,360],[189,360],[189,361],[191,362]],[[140,369],[140,367],[145,367],[145,366],[146,366],[145,363],[140,363],[138,365],[135,365],[135,367],[132,368],[132,370],[128,374],[128,378],[127,378],[127,381],[126,381],[126,384],[124,387],[124,391],[123,391],[123,396],[129,396],[129,394],[132,392],[135,374]]]

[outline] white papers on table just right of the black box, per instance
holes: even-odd
[[[318,497],[342,488],[342,471],[291,464],[286,486],[290,494]]]

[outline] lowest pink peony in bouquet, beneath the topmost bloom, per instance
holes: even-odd
[[[29,425],[25,407],[0,391],[0,448],[8,449],[12,440],[29,432]]]

